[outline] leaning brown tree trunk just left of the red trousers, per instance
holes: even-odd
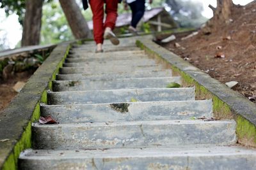
[[[92,38],[92,32],[90,31],[76,1],[60,0],[60,4],[74,37],[76,39]]]

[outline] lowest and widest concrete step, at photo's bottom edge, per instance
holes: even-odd
[[[110,150],[26,150],[21,170],[44,169],[189,169],[253,170],[256,150],[239,146],[179,146]]]

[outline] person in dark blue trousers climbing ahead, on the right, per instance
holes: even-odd
[[[152,0],[149,0],[149,3],[151,4]],[[130,6],[132,11],[132,21],[128,29],[132,34],[138,35],[136,27],[145,13],[145,0],[125,0],[126,10],[127,4]]]

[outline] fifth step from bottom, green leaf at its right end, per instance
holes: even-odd
[[[52,90],[60,92],[111,89],[153,89],[166,88],[171,82],[181,84],[180,76],[163,78],[119,78],[113,80],[56,80],[52,81]]]

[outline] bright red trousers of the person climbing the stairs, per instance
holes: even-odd
[[[106,3],[106,21],[104,20],[104,3]],[[93,36],[96,44],[103,43],[103,34],[106,27],[115,28],[118,0],[90,0],[93,13]]]

